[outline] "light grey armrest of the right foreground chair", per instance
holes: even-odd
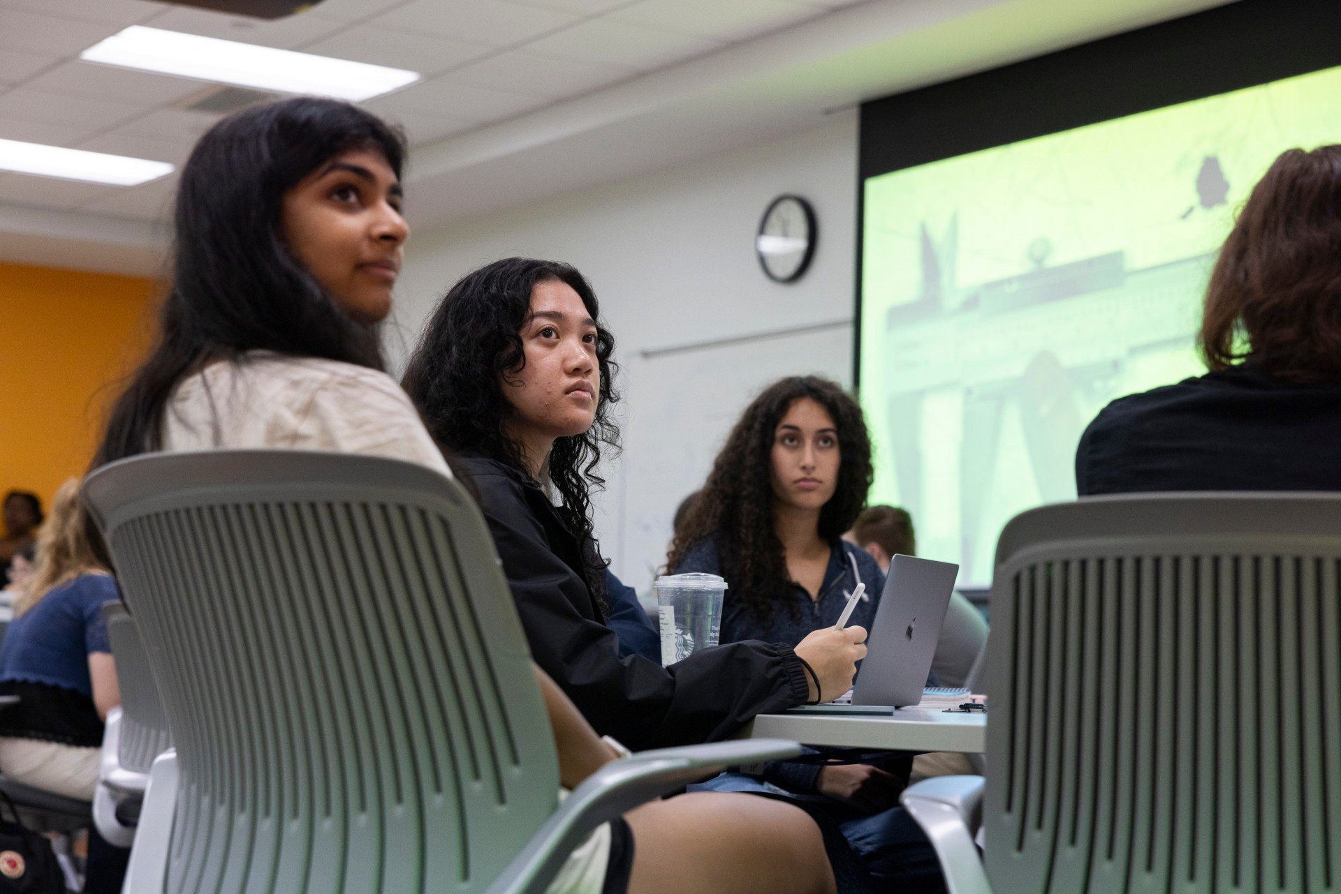
[[[974,831],[982,822],[982,776],[936,776],[898,799],[936,848],[949,894],[991,894]]]

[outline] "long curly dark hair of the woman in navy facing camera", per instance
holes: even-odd
[[[870,491],[870,436],[861,407],[834,382],[794,375],[770,385],[746,407],[699,492],[684,529],[670,544],[666,567],[680,566],[689,550],[716,539],[721,576],[755,618],[767,619],[786,599],[791,580],[782,540],[774,528],[772,442],[778,424],[802,398],[823,406],[838,429],[838,487],[819,511],[819,536],[841,537],[866,505]]]

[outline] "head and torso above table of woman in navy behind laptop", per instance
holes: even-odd
[[[870,599],[852,621],[869,626],[885,576],[842,535],[866,505],[870,477],[857,402],[814,375],[775,382],[727,437],[666,566],[727,579],[723,642],[799,642],[838,621],[858,582]]]

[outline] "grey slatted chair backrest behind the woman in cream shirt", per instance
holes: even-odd
[[[479,891],[558,767],[492,541],[392,460],[150,456],[90,476],[178,753],[169,891]]]

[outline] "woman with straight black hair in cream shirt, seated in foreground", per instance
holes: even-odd
[[[241,111],[201,138],[178,190],[160,336],[117,402],[95,465],[150,450],[282,448],[451,474],[381,371],[377,330],[409,236],[404,153],[400,134],[369,113],[310,98]],[[559,779],[574,787],[616,751],[547,676],[536,680]],[[550,891],[833,891],[814,823],[755,800],[645,804],[593,832]],[[725,834],[739,828],[748,831]]]

